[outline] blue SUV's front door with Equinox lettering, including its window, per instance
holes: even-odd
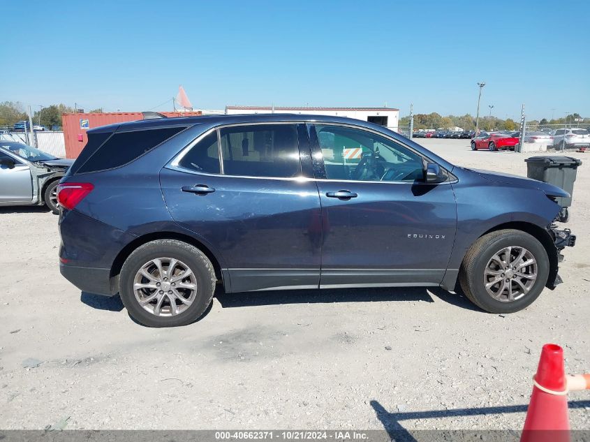
[[[321,287],[438,285],[457,227],[449,182],[372,131],[310,126],[323,216]]]

